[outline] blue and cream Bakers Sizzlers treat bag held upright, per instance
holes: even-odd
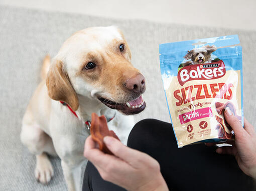
[[[160,44],[164,90],[178,147],[233,138],[229,107],[243,125],[242,47],[237,35]]]

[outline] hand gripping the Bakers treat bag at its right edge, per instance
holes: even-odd
[[[256,178],[256,132],[254,127],[244,118],[244,128],[229,107],[225,108],[224,116],[234,131],[235,139],[226,143],[232,146],[221,146],[216,149],[220,154],[234,155],[240,169],[247,175]],[[211,146],[216,143],[206,143]]]

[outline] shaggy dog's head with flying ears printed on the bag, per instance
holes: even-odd
[[[211,58],[211,53],[216,50],[216,46],[206,45],[200,48],[193,48],[189,50],[188,53],[184,56],[185,59],[191,59],[193,64],[204,63]]]

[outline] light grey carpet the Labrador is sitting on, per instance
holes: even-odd
[[[36,181],[35,157],[19,138],[21,119],[39,82],[46,53],[54,56],[64,40],[79,29],[112,24],[123,30],[133,53],[133,64],[147,79],[148,106],[136,120],[151,117],[170,121],[160,75],[159,43],[238,34],[243,47],[244,113],[255,126],[256,32],[0,6],[0,190],[67,189],[58,158],[51,159],[55,175],[50,184]]]

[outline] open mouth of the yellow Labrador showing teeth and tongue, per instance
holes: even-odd
[[[120,110],[124,114],[137,114],[143,111],[146,107],[143,95],[126,103],[116,103],[103,97],[98,97],[98,99],[109,108]]]

